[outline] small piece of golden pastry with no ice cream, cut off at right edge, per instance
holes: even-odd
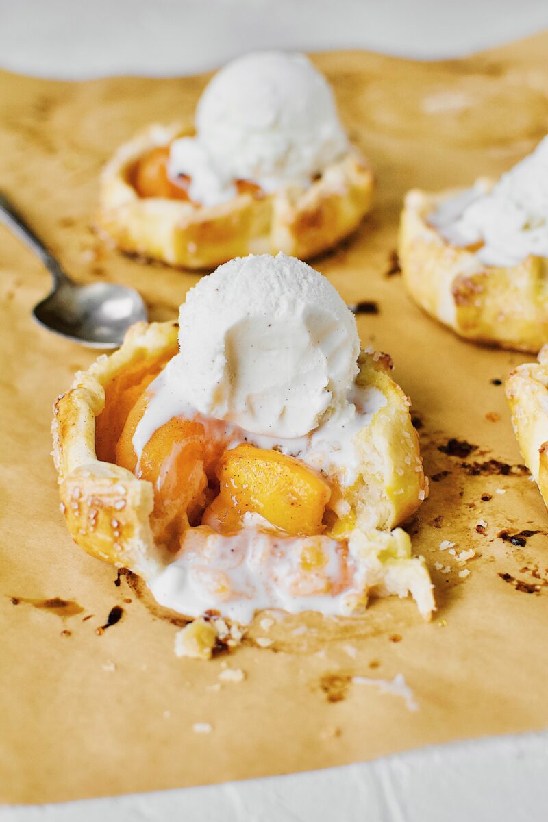
[[[504,390],[519,450],[548,507],[548,345],[541,349],[538,363],[511,372]]]

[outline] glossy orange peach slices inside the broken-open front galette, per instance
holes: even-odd
[[[301,460],[248,444],[227,450],[218,420],[173,417],[146,443],[140,459],[133,436],[150,394],[145,390],[127,414],[116,463],[154,487],[154,539],[176,551],[182,533],[202,520],[220,533],[242,527],[255,513],[285,533],[312,536],[325,530],[331,488]]]

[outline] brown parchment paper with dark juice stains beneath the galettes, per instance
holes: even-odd
[[[548,35],[540,35],[454,62],[361,52],[314,58],[378,179],[369,219],[315,265],[348,302],[378,303],[377,315],[358,319],[362,343],[394,356],[422,426],[435,481],[411,528],[435,582],[439,610],[430,625],[412,603],[393,598],[347,625],[257,622],[237,653],[211,663],[176,658],[176,626],[154,616],[126,578],[115,585],[116,571],[72,545],[65,530],[49,456],[51,405],[94,355],[32,323],[48,275],[0,229],[0,800],[284,774],[546,727],[548,515],[515,468],[521,459],[503,388],[493,384],[525,358],[457,339],[389,274],[406,189],[498,174],[546,134],[547,49]],[[0,74],[2,188],[76,279],[136,286],[153,319],[175,316],[196,275],[105,249],[90,230],[97,176],[147,122],[191,115],[204,84],[205,77],[66,83]],[[451,437],[477,448],[440,451]],[[539,533],[514,545],[497,536],[503,529]],[[466,579],[440,551],[442,540],[477,552]],[[436,570],[436,562],[451,570]],[[39,607],[45,598],[72,604]],[[96,633],[115,605],[122,619]],[[253,638],[265,636],[274,642],[261,649]],[[227,665],[245,679],[219,680]],[[398,673],[416,712],[352,681]],[[197,733],[196,723],[211,731]]]

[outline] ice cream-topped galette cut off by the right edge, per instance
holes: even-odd
[[[458,335],[535,353],[548,339],[546,175],[548,137],[498,182],[406,196],[404,283]]]

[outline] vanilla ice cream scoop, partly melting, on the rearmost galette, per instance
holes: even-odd
[[[203,152],[199,162],[192,143]],[[265,192],[307,186],[347,150],[333,92],[310,60],[258,52],[229,62],[210,81],[196,109],[196,137],[173,143],[169,173],[189,175],[192,199],[213,205],[238,179]],[[204,173],[204,158],[219,184]]]

